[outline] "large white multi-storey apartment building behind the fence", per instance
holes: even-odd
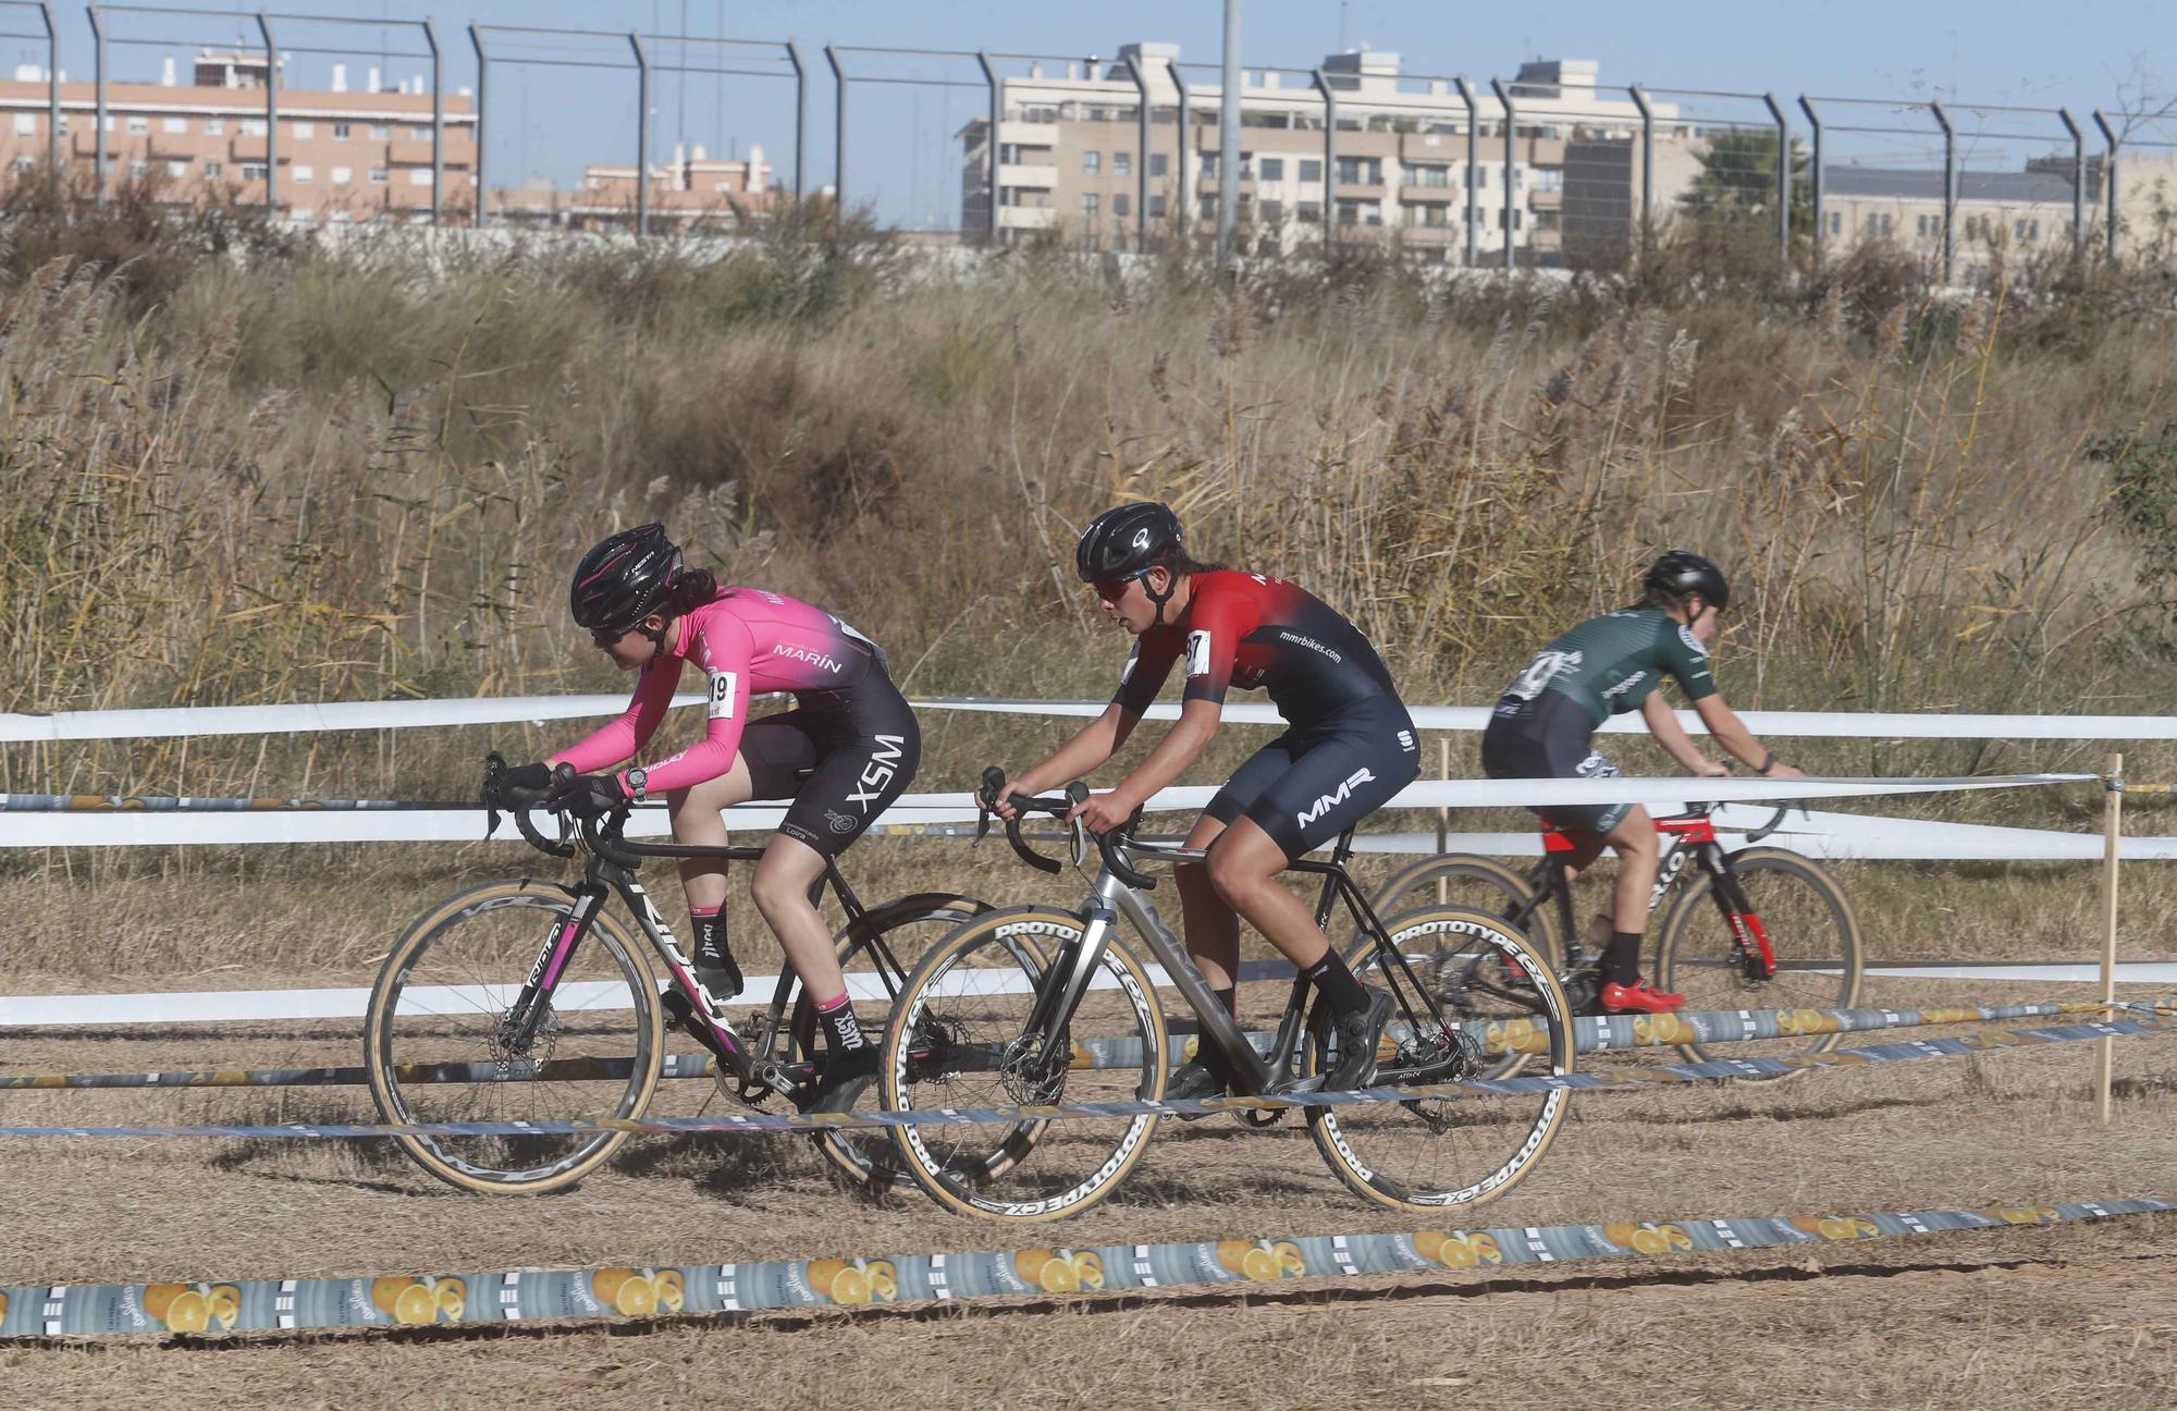
[[[1149,94],[1149,150],[1136,150],[1141,68]],[[1243,70],[1241,224],[1252,248],[1293,248],[1337,235],[1398,231],[1409,250],[1461,259],[1472,185],[1478,259],[1506,244],[1537,263],[1600,257],[1637,229],[1641,113],[1631,98],[1598,89],[1594,61],[1528,63],[1509,85],[1513,152],[1504,155],[1504,105],[1478,85],[1467,98],[1450,78],[1404,74],[1389,52],[1330,54],[1324,78],[1337,96],[1337,170],[1324,170],[1326,100],[1300,70]],[[1191,133],[1178,131],[1182,98]],[[997,231],[1067,231],[1088,244],[1130,248],[1139,240],[1141,163],[1147,163],[1147,224],[1163,233],[1215,229],[1215,72],[1180,65],[1173,44],[1128,44],[1110,65],[1030,70],[1001,81],[997,131]],[[1700,170],[1698,131],[1668,102],[1655,109],[1657,211]],[[988,120],[960,131],[962,224],[991,229]],[[1467,128],[1478,128],[1467,161]],[[1506,203],[1506,181],[1511,203]]]

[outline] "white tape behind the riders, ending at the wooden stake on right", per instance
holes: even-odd
[[[1548,803],[1648,803],[1657,812],[1674,812],[1685,799],[1853,799],[1874,795],[1922,795],[1977,788],[2029,788],[2040,784],[2079,784],[2094,775],[1990,775],[1979,780],[1702,780],[1694,790],[1683,777],[1668,780],[1424,780],[1409,784],[1387,808],[1517,808]],[[1167,788],[1149,799],[1149,812],[1197,810],[1215,797],[1206,784]],[[786,817],[777,806],[740,806],[727,810],[727,823],[738,832],[768,832]],[[967,793],[903,795],[886,823],[971,823],[975,797]],[[420,812],[246,812],[246,814],[174,814],[174,812],[83,812],[83,814],[0,814],[0,847],[146,847],[205,843],[475,843],[483,838],[483,810]],[[647,838],[666,832],[662,810],[638,808],[629,814],[629,836]],[[501,821],[499,836],[520,841],[512,823]],[[2062,836],[2062,834],[2055,834]],[[2094,843],[2083,838],[2083,843]],[[1430,849],[1432,851],[1432,849]],[[1472,851],[1472,849],[1469,849]],[[1491,849],[1493,851],[1493,849]],[[1855,854],[1859,856],[1859,854]],[[1927,854],[1940,856],[1940,854]],[[1968,854],[1970,856],[1970,854]],[[2027,854],[2009,854],[2027,856]]]

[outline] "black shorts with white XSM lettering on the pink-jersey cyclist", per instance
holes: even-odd
[[[753,799],[792,799],[779,832],[827,858],[847,851],[914,780],[923,732],[890,677],[812,690],[740,734]]]

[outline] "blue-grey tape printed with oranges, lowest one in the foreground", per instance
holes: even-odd
[[[773,1259],[616,1269],[0,1287],[0,1337],[329,1333],[540,1320],[640,1320],[1023,1293],[1121,1293],[1289,1278],[1506,1269],[1600,1259],[1776,1250],[1953,1230],[2042,1228],[2177,1211],[2168,1200],[2035,1208],[1772,1215],[1763,1219],[1295,1235],[977,1254]]]

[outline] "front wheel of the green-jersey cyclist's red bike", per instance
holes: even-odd
[[[1837,882],[1781,847],[1731,854],[1731,871],[1776,956],[1776,973],[1755,980],[1737,960],[1735,930],[1718,906],[1715,878],[1700,873],[1678,895],[1657,943],[1657,984],[1685,995],[1687,1010],[1781,1010],[1781,1039],[1729,1045],[1685,1043],[1707,1058],[1792,1058],[1837,1047],[1842,1034],[1800,1034],[1807,1010],[1850,1008],[1859,997],[1859,921]],[[1796,1073],[1783,1073],[1794,1078]]]

